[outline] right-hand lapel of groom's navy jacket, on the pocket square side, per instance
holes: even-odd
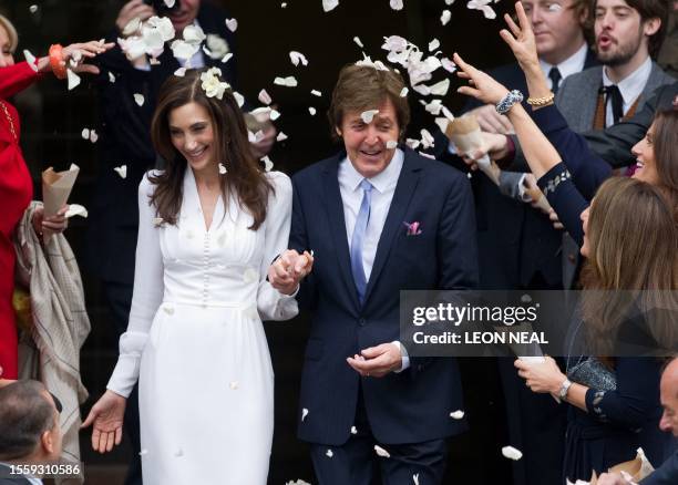
[[[374,288],[374,285],[379,279],[379,275],[381,274],[381,270],[383,269],[383,266],[388,259],[393,238],[399,230],[404,230],[404,216],[410,205],[410,200],[412,199],[412,195],[417,188],[417,184],[419,183],[422,161],[409,148],[404,151],[404,155],[402,169],[400,171],[398,184],[396,185],[396,193],[393,194],[393,199],[391,200],[389,214],[387,215],[386,223],[383,224],[379,242],[377,244],[374,265],[372,266],[370,280],[368,281],[367,290],[364,292],[366,302],[370,298],[372,288]]]

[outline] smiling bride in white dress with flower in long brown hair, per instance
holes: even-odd
[[[214,70],[188,71],[160,93],[152,135],[166,168],[140,185],[130,322],[83,424],[94,424],[94,450],[111,451],[138,379],[150,485],[265,484],[268,474],[274,372],[261,320],[298,312],[266,280],[287,248],[291,183],[257,166],[226,87]]]

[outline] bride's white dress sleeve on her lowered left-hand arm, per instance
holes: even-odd
[[[165,291],[164,265],[160,247],[162,226],[154,224],[155,210],[148,204],[153,185],[148,175],[138,186],[138,237],[134,265],[134,295],[127,331],[120,338],[120,357],[107,389],[127,398],[138,379],[141,355],[148,340],[155,312]]]

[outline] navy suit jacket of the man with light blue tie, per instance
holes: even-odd
[[[400,340],[400,290],[469,289],[477,283],[473,199],[466,177],[404,148],[404,163],[381,233],[366,300],[350,270],[339,153],[292,177],[290,247],[315,251],[314,270],[297,296],[312,322],[299,400],[299,437],[341,445],[350,436],[359,388],[381,443],[420,443],[462,432],[450,412],[463,409],[454,359],[412,358],[408,370],[360,378],[347,357]],[[408,236],[404,221],[419,221]],[[361,382],[362,381],[362,382]],[[301,410],[308,414],[301,420]]]

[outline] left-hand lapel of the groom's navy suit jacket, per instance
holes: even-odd
[[[346,236],[346,219],[343,218],[343,200],[341,199],[341,192],[339,190],[338,171],[339,162],[342,158],[342,154],[330,158],[322,171],[323,193],[326,195],[323,199],[331,238],[332,242],[335,244],[335,251],[337,254],[337,266],[339,267],[339,272],[341,274],[341,278],[343,279],[348,290],[349,298],[356,308],[360,308],[353,275],[351,274],[350,252]]]

